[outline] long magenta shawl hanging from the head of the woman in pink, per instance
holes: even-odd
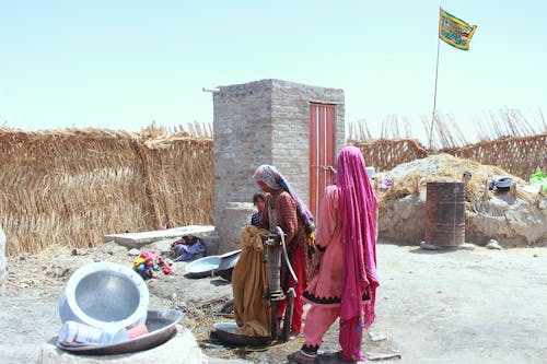
[[[375,317],[377,199],[359,149],[341,150],[336,178],[344,248],[339,342],[344,360],[359,361],[363,330]],[[363,295],[369,295],[368,304],[363,304]]]

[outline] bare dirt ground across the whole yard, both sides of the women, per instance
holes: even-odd
[[[9,257],[0,289],[0,363],[34,363],[60,328],[58,301],[70,274],[86,262],[130,266],[133,256],[108,243],[94,249],[51,248]],[[221,278],[175,274],[149,280],[150,308],[178,308],[212,359],[284,363],[302,339],[266,349],[226,348],[211,340],[231,285]],[[377,318],[365,334],[370,360],[381,363],[545,363],[547,357],[547,247],[437,251],[381,242]],[[323,350],[339,350],[334,328]],[[385,337],[385,339],[383,339]],[[214,360],[211,360],[214,362]]]

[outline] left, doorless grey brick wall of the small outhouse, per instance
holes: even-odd
[[[271,163],[271,87],[257,81],[213,94],[214,216],[223,202],[252,202],[253,173]]]

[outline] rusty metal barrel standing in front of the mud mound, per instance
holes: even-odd
[[[426,243],[457,247],[465,243],[465,184],[428,183]]]

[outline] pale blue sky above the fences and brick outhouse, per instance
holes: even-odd
[[[478,26],[441,42],[437,108],[464,130],[489,111],[547,113],[542,1],[0,1],[0,125],[138,131],[212,121],[201,87],[281,79],[344,89],[346,121],[422,129],[439,7]]]

